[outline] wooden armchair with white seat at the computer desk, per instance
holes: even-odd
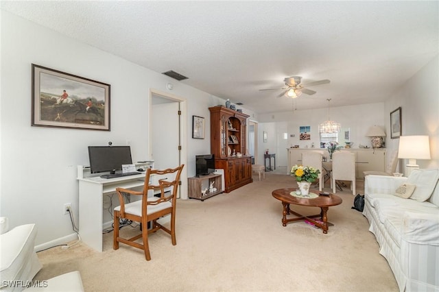
[[[116,188],[117,195],[119,197],[120,206],[117,206],[114,211],[114,237],[113,237],[113,249],[119,249],[119,242],[137,247],[145,252],[146,260],[151,260],[150,247],[148,245],[148,234],[156,232],[159,229],[171,235],[172,245],[176,245],[176,198],[178,184],[180,181],[181,171],[185,165],[180,165],[175,169],[147,169],[145,175],[145,184],[143,191],[132,191],[126,188]],[[158,185],[150,184],[152,175],[163,175],[174,177],[174,180],[168,181],[167,178],[159,179]],[[153,190],[160,190],[160,197],[148,197],[148,193]],[[132,203],[125,203],[123,195],[140,195],[142,199]],[[171,229],[165,228],[157,219],[171,215]],[[141,234],[134,236],[130,239],[124,239],[119,236],[119,220],[128,219],[131,221],[137,221],[141,223]],[[152,228],[148,230],[147,223],[152,222]],[[142,239],[143,244],[134,242],[137,239]]]

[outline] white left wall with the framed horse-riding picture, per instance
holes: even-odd
[[[195,155],[210,152],[208,108],[224,99],[0,11],[0,215],[11,227],[36,223],[37,245],[70,236],[62,208],[71,203],[78,223],[76,165],[88,165],[87,146],[130,141],[133,160],[145,160],[150,89],[166,91],[168,82],[187,99],[186,169],[195,175]],[[31,127],[32,63],[111,84],[111,131]],[[205,139],[191,138],[192,115],[206,117]]]

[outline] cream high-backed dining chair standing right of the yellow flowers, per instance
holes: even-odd
[[[336,180],[351,181],[352,194],[355,195],[355,154],[349,151],[337,151],[332,156],[332,190],[335,193]]]

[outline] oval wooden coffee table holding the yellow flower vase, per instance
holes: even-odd
[[[296,188],[278,188],[272,192],[273,197],[282,202],[283,212],[282,212],[282,226],[287,226],[288,222],[291,221],[299,221],[299,220],[308,220],[316,226],[322,228],[323,233],[328,233],[328,217],[327,212],[329,207],[337,206],[342,204],[343,200],[341,197],[330,193],[329,195],[318,195],[316,198],[307,198],[307,197],[294,197],[291,195],[292,192],[295,192]],[[311,216],[303,216],[298,212],[294,212],[289,208],[289,204],[300,205],[300,206],[308,206],[308,207],[319,207],[320,214],[311,215]],[[287,219],[287,215],[294,214],[297,217]],[[323,223],[313,220],[313,218],[320,217]]]

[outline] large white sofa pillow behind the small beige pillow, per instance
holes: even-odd
[[[424,202],[433,194],[439,180],[439,169],[415,169],[407,178],[407,184],[415,184],[416,188],[410,197],[418,202]]]

